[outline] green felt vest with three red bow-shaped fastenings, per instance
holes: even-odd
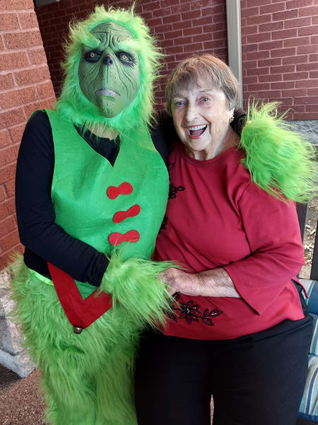
[[[121,137],[112,166],[57,111],[46,113],[54,140],[55,222],[104,254],[111,256],[119,244],[124,259],[150,259],[165,214],[169,177],[148,129]],[[78,289],[89,295],[95,288],[79,284]]]

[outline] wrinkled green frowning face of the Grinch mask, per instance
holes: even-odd
[[[83,45],[78,79],[83,94],[106,118],[118,115],[136,97],[140,86],[139,56],[122,48],[134,40],[126,28],[102,23],[90,31],[98,47]]]

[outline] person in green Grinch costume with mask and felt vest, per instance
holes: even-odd
[[[169,177],[148,130],[160,53],[134,11],[71,27],[56,109],[18,155],[13,298],[52,425],[134,425],[134,353],[169,297],[150,261]]]

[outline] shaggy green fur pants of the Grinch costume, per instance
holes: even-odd
[[[54,286],[16,266],[16,321],[42,370],[52,425],[136,425],[134,354],[140,322],[116,305],[74,334]]]

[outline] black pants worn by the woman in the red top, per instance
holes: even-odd
[[[139,425],[295,425],[312,318],[228,341],[148,331],[136,362]]]

